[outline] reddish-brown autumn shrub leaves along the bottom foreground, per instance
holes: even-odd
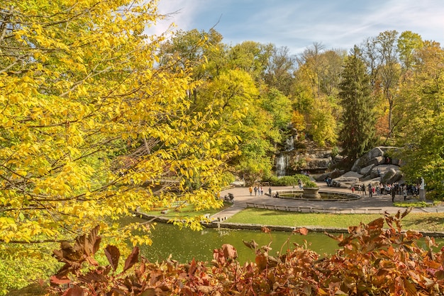
[[[409,213],[384,214],[369,224],[349,227],[348,235],[334,236],[340,249],[320,258],[303,246],[271,256],[270,244],[255,251],[255,263],[240,265],[233,246],[213,251],[211,264],[180,264],[167,260],[150,263],[138,256],[138,248],[116,273],[120,252],[106,246],[108,266],[98,266],[94,256],[99,237],[94,230],[69,248],[62,244],[55,256],[65,266],[52,277],[51,292],[60,295],[441,295],[444,292],[443,249],[436,252],[431,238],[401,230]],[[385,228],[384,228],[385,227]],[[270,233],[266,227],[262,229]],[[306,234],[296,229],[293,234]],[[426,249],[418,246],[424,239]],[[77,244],[78,242],[82,244]],[[89,271],[82,272],[82,263]],[[71,276],[68,277],[67,273]]]

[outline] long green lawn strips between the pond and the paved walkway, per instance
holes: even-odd
[[[339,227],[347,228],[368,223],[382,215],[379,214],[323,214],[282,212],[263,209],[245,209],[229,218],[226,222],[285,225],[292,227]],[[444,213],[410,213],[402,220],[403,229],[444,232]]]

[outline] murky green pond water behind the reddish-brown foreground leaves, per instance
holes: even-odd
[[[333,254],[338,248],[336,241],[321,233],[309,233],[306,236],[291,234],[290,232],[272,232],[272,251],[282,251],[289,246],[294,249],[294,243],[309,244],[309,249],[318,254]],[[213,249],[220,249],[223,244],[231,244],[238,251],[238,259],[241,263],[254,261],[254,251],[249,249],[244,241],[254,239],[259,246],[270,243],[270,234],[260,231],[244,229],[204,229],[192,231],[190,229],[179,229],[171,224],[159,223],[152,232],[152,246],[142,246],[141,254],[150,261],[162,260],[172,254],[172,258],[185,263],[195,258],[197,261],[211,261]],[[286,243],[289,239],[289,244]]]

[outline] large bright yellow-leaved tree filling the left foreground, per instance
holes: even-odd
[[[157,1],[0,4],[0,247],[71,239],[139,206],[218,207],[229,156],[189,110],[190,71],[157,64]],[[230,152],[235,153],[235,151]],[[196,226],[190,221],[191,226]]]

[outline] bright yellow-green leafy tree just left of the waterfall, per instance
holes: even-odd
[[[215,77],[199,98],[202,104],[211,106],[211,113],[218,118],[213,129],[225,130],[238,139],[222,145],[227,152],[239,149],[239,154],[228,161],[231,171],[247,182],[270,173],[270,152],[274,151],[279,132],[273,127],[273,115],[261,107],[260,92],[252,77],[240,69],[228,70]]]

